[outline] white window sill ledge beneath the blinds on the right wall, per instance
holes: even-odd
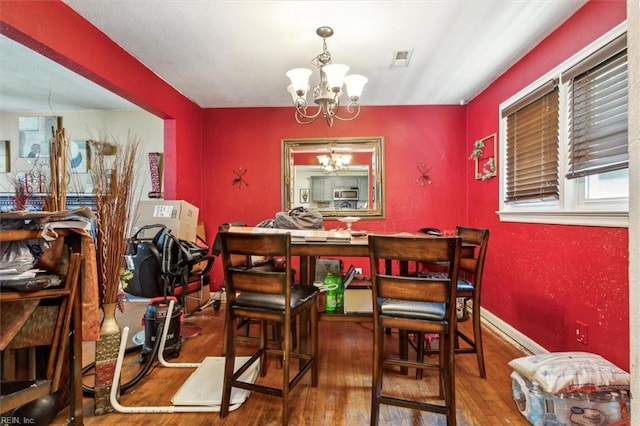
[[[498,211],[501,222],[628,228],[628,212],[512,212]]]

